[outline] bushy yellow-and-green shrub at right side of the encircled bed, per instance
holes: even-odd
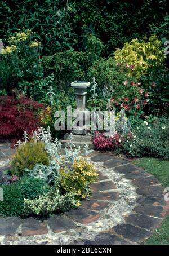
[[[60,174],[61,187],[82,198],[85,198],[89,193],[88,184],[95,182],[98,177],[94,164],[83,158],[74,161],[72,170],[61,168]]]

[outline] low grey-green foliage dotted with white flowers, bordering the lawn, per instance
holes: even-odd
[[[168,119],[148,118],[138,120],[133,126],[132,134],[127,136],[120,151],[130,157],[169,158]]]

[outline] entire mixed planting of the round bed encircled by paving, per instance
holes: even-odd
[[[0,216],[48,215],[81,205],[81,198],[89,195],[88,186],[98,175],[80,151],[66,148],[61,155],[61,144],[57,139],[53,142],[49,127],[34,131],[30,139],[24,133],[10,169],[0,176],[5,193]],[[87,156],[87,146],[84,152]]]

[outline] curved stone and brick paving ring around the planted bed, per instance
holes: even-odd
[[[0,218],[0,244],[141,244],[152,235],[163,219],[162,184],[111,153],[94,151],[90,161],[99,181],[81,207],[47,219]]]

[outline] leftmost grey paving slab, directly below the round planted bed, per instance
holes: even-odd
[[[12,236],[21,224],[19,217],[0,218],[0,235]]]

